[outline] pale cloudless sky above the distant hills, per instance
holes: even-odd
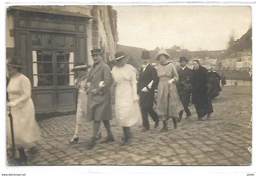
[[[248,6],[114,6],[118,44],[154,50],[223,50],[251,27]]]

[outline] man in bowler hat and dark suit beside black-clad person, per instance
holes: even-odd
[[[191,117],[190,109],[188,109],[188,105],[190,104],[190,75],[192,70],[187,67],[188,59],[185,57],[180,57],[180,70],[179,74],[179,81],[177,83],[177,90],[180,96],[180,101],[184,107],[185,113],[187,115],[186,118]],[[181,110],[179,113],[178,121],[182,119],[182,115],[184,110]]]

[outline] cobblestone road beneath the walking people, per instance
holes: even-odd
[[[40,121],[43,140],[38,142],[36,152],[30,153],[29,165],[66,164],[166,164],[166,165],[240,165],[251,164],[252,129],[251,87],[224,87],[221,95],[213,100],[214,118],[197,121],[193,117],[182,119],[177,129],[169,123],[169,131],[159,133],[160,127],[141,133],[133,127],[132,143],[119,146],[123,132],[112,120],[115,142],[97,144],[88,150],[91,123],[79,135],[77,144],[69,144],[73,136],[74,115],[54,117]],[[102,125],[102,134],[105,130]]]

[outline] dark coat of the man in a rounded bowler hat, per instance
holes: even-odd
[[[179,81],[177,83],[177,90],[180,96],[180,101],[182,102],[183,106],[188,107],[190,103],[190,77],[191,77],[192,69],[185,67],[184,70],[180,69],[179,74]]]

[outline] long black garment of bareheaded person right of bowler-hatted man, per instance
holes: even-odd
[[[196,113],[199,118],[213,112],[212,101],[208,94],[208,81],[208,72],[205,67],[199,66],[199,69],[193,69],[190,79],[192,103],[196,106]]]

